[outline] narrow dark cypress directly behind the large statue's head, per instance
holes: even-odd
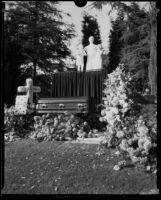
[[[82,33],[83,33],[82,44],[84,47],[89,44],[88,39],[90,36],[94,37],[95,44],[101,43],[99,26],[96,18],[94,18],[93,16],[84,14],[82,21]]]

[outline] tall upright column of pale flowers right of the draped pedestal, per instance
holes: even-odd
[[[100,121],[107,123],[109,147],[116,146],[118,140],[126,135],[124,119],[133,104],[133,101],[128,98],[129,81],[131,76],[125,71],[124,65],[119,65],[105,80],[104,109],[101,111]]]

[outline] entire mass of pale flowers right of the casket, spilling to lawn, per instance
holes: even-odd
[[[130,98],[131,84],[132,76],[124,65],[119,65],[105,80],[100,120],[107,122],[107,130],[101,143],[117,147],[135,164],[153,165],[156,164],[157,146],[156,106],[147,116],[147,109],[141,109],[141,105]]]

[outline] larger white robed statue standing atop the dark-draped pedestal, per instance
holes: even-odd
[[[84,48],[87,55],[86,71],[102,69],[102,50],[99,46],[95,45],[94,37],[89,37],[89,45]]]

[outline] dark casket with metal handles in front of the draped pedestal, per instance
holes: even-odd
[[[40,98],[36,105],[38,113],[88,113],[94,110],[90,97]]]

